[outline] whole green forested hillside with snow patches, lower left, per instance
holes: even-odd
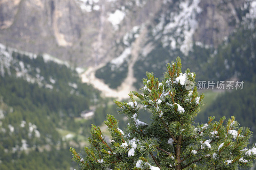
[[[80,127],[95,122],[80,113],[101,97],[64,63],[0,44],[0,169],[74,166],[69,147],[83,146]]]

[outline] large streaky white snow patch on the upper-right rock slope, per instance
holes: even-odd
[[[160,22],[153,30],[155,39],[161,38],[163,47],[170,46],[171,49],[180,48],[184,55],[193,47],[193,34],[197,28],[196,15],[201,13],[202,9],[199,7],[200,0],[194,0],[190,3],[189,0],[179,4],[178,11],[170,13],[170,21],[165,24],[165,15],[162,14]]]

